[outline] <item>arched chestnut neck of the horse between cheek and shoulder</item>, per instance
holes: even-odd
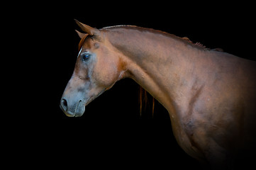
[[[174,35],[143,28],[118,28],[111,31],[109,40],[123,54],[127,77],[174,113],[175,103],[186,95],[182,84],[193,81],[199,49]]]

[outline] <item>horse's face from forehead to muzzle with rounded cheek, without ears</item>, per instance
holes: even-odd
[[[84,36],[74,72],[60,101],[62,111],[71,117],[83,115],[85,106],[110,89],[121,73],[118,56],[104,45],[104,41]]]

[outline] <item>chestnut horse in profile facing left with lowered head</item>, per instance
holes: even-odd
[[[82,116],[130,78],[164,106],[177,143],[209,169],[233,169],[255,149],[256,62],[138,26],[92,28],[75,20],[79,54],[60,101]],[[252,153],[252,154],[250,154]],[[242,165],[243,166],[243,165]]]

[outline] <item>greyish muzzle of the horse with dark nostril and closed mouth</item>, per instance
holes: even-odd
[[[72,103],[67,101],[66,98],[62,98],[60,101],[60,108],[69,117],[80,117],[84,114],[85,104],[83,100]]]

